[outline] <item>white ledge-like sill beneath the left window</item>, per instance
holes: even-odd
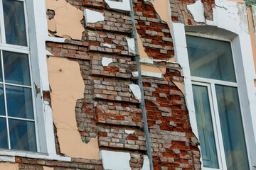
[[[61,162],[71,162],[70,157],[62,157],[57,154],[46,154],[40,152],[26,152],[0,149],[0,162],[15,162],[15,157],[26,157],[33,159],[46,159]]]

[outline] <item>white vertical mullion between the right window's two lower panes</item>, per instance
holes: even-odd
[[[219,161],[222,164],[222,168],[223,170],[227,170],[227,164],[225,161],[225,149],[224,149],[224,145],[223,145],[223,136],[222,136],[222,132],[221,132],[221,126],[220,126],[220,116],[219,116],[219,112],[218,112],[218,101],[217,101],[217,96],[216,96],[216,91],[215,91],[215,84],[211,83],[210,84],[210,90],[211,90],[211,96],[212,96],[212,103],[213,103],[213,127],[216,128],[215,133],[218,136],[218,138],[216,138],[215,140],[217,141],[216,143],[219,146],[219,152],[220,152],[220,159]]]

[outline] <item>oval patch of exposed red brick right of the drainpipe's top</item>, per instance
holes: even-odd
[[[174,57],[171,31],[168,24],[161,21],[154,6],[139,0],[134,4],[134,15],[137,33],[147,55],[156,60],[169,60]]]

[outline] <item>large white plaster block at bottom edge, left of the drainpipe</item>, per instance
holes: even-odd
[[[100,151],[103,168],[107,170],[130,170],[131,155],[127,152]]]

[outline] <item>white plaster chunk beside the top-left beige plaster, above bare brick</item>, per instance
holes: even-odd
[[[97,23],[99,21],[104,21],[104,16],[98,11],[92,11],[90,9],[85,9],[84,11],[85,23]]]

